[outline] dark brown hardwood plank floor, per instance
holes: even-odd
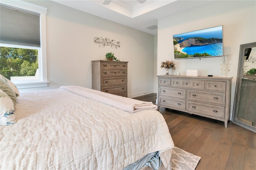
[[[134,99],[156,103],[156,94]],[[256,133],[232,122],[161,108],[174,145],[201,157],[196,170],[256,170]]]

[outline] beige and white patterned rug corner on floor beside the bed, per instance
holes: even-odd
[[[176,146],[172,148],[172,170],[194,170],[200,159],[200,156],[190,154]]]

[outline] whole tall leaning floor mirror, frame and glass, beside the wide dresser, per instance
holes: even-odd
[[[256,133],[256,42],[240,45],[232,122]]]

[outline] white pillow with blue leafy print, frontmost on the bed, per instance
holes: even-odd
[[[14,104],[12,99],[3,90],[0,90],[0,111],[0,125],[16,123]]]

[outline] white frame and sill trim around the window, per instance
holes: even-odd
[[[34,88],[34,87],[46,87],[48,86],[47,80],[47,60],[46,60],[46,14],[47,8],[23,2],[20,0],[1,0],[1,4],[6,4],[9,6],[14,6],[16,8],[29,10],[32,12],[40,13],[40,44],[41,47],[33,48],[29,46],[20,45],[10,45],[10,44],[0,44],[5,47],[14,48],[30,48],[38,50],[38,70],[39,70],[39,80],[14,80],[12,81],[17,88]]]

